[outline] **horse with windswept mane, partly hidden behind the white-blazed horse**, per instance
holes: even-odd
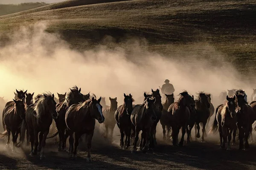
[[[73,104],[78,104],[84,101],[85,99],[84,99],[84,95],[81,94],[81,88],[74,86],[73,88],[70,88],[70,91],[66,95],[65,101],[58,103],[56,105],[56,111],[58,113],[58,117],[57,119],[54,119],[54,120],[55,120],[55,124],[58,131],[56,131],[52,136],[47,137],[47,139],[51,139],[59,135],[60,142],[58,145],[58,151],[66,150],[66,139],[68,135],[65,134],[67,130],[67,125],[65,123],[65,115],[66,115],[67,109]]]

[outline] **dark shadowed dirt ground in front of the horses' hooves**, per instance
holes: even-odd
[[[119,136],[117,136],[117,139]],[[121,150],[118,142],[109,144],[104,140],[93,140],[92,159],[86,162],[87,153],[80,144],[78,158],[70,159],[68,153],[57,151],[57,144],[47,144],[46,159],[40,160],[39,155],[29,156],[29,147],[25,153],[8,152],[3,141],[0,145],[0,169],[223,169],[223,170],[253,170],[256,169],[256,146],[251,144],[249,150],[238,150],[232,146],[230,151],[219,149],[217,136],[208,136],[208,142],[192,142],[183,147],[172,147],[169,144],[158,142],[154,152],[131,153],[130,150]],[[211,141],[211,142],[209,142]]]

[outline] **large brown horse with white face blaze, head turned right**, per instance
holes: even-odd
[[[91,162],[91,142],[93,138],[95,119],[103,123],[105,118],[102,114],[100,105],[101,97],[96,100],[94,97],[83,103],[71,105],[66,113],[65,122],[67,133],[69,134],[70,149],[69,152],[74,158],[77,156],[77,147],[82,134],[87,134],[87,161]],[[73,149],[73,133],[75,133],[75,149]]]

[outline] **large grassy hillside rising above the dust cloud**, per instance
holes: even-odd
[[[83,2],[83,3],[81,3]],[[71,0],[0,17],[0,30],[47,20],[48,31],[61,33],[74,48],[90,48],[111,35],[143,37],[149,49],[171,54],[207,43],[243,73],[254,73],[256,60],[256,2],[249,0]],[[91,4],[91,5],[86,5]],[[84,6],[80,6],[84,5]],[[72,6],[72,7],[70,7]],[[46,11],[45,11],[46,10]],[[15,26],[15,27],[14,27]],[[89,44],[84,44],[84,39]],[[175,48],[175,49],[174,49]],[[195,49],[195,50],[197,50]],[[241,63],[242,61],[242,63]]]

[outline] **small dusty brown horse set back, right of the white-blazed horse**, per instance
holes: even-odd
[[[103,116],[105,117],[105,121],[104,121],[104,125],[105,125],[105,138],[108,138],[108,129],[110,129],[110,140],[112,142],[112,137],[113,137],[113,130],[114,127],[116,125],[116,120],[115,120],[115,112],[117,109],[117,98],[111,99],[111,97],[109,97],[110,100],[110,106],[103,108],[102,109],[102,113]]]

